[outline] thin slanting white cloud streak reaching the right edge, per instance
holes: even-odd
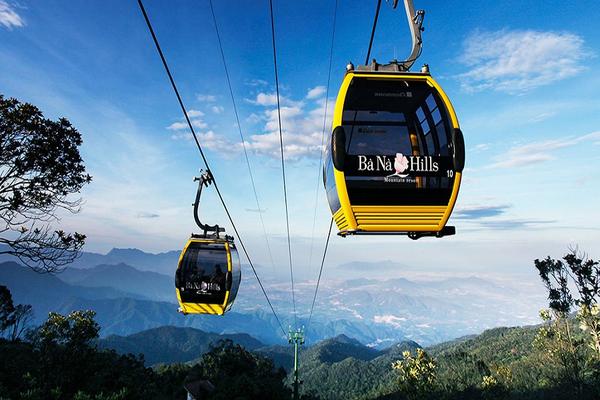
[[[531,142],[524,145],[513,146],[506,154],[496,157],[497,162],[491,168],[511,168],[537,164],[554,160],[554,150],[571,147],[581,142],[600,139],[600,131],[581,136],[566,136],[559,139]]]

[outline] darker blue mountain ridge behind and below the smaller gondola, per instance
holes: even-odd
[[[130,271],[130,268],[132,267],[126,267],[125,270]],[[100,269],[107,272],[103,266]],[[119,269],[114,271],[117,273],[112,275],[112,278],[117,282],[115,286],[119,286],[123,280],[118,273]],[[148,272],[137,271],[137,274],[145,277]],[[96,321],[101,326],[102,336],[128,335],[163,325],[172,325],[195,327],[222,334],[248,332],[268,343],[281,341],[275,333],[276,322],[273,316],[265,313],[264,310],[245,314],[230,312],[222,317],[184,316],[177,312],[177,305],[174,302],[147,300],[149,296],[107,286],[94,287],[95,283],[100,284],[93,280],[95,275],[92,271],[88,275],[92,280],[80,281],[84,285],[72,285],[58,278],[62,274],[56,276],[38,274],[14,262],[0,264],[0,284],[8,286],[15,304],[33,306],[34,324],[45,321],[51,311],[68,314],[74,310],[94,310]],[[108,276],[107,273],[104,278]],[[150,278],[154,277],[155,275],[150,275]],[[169,277],[165,276],[165,279],[171,281]],[[148,280],[152,281],[152,279]]]

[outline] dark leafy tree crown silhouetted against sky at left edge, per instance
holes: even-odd
[[[79,154],[81,134],[71,123],[0,94],[0,254],[39,272],[71,263],[85,235],[52,227],[60,210],[76,213],[71,199],[91,181]]]

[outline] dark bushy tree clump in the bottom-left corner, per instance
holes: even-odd
[[[94,312],[51,313],[31,341],[0,340],[0,396],[31,400],[179,398],[183,374],[161,376],[142,357],[98,350]],[[174,379],[177,382],[170,382]]]

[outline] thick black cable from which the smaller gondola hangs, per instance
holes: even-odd
[[[162,49],[158,42],[158,38],[156,37],[156,34],[154,33],[154,29],[152,28],[152,24],[150,22],[150,19],[148,18],[146,9],[144,8],[144,4],[142,3],[142,0],[137,0],[137,2],[140,7],[140,10],[142,11],[142,14],[144,16],[144,20],[146,21],[146,25],[148,26],[148,30],[150,31],[150,34],[152,36],[152,40],[154,41],[154,45],[156,46],[156,50],[158,51],[158,54],[160,55],[160,59],[162,61],[163,67],[165,68],[165,72],[167,73],[167,76],[169,77],[169,81],[171,82],[171,86],[173,88],[173,91],[175,92],[175,96],[177,96],[177,101],[179,102],[179,106],[181,107],[181,110],[183,112],[185,120],[187,121],[188,127],[190,128],[190,132],[192,133],[192,136],[194,137],[194,141],[196,142],[196,146],[198,147],[200,156],[201,156],[202,160],[204,161],[204,165],[206,166],[206,169],[210,171],[208,160],[206,159],[206,156],[204,155],[204,151],[202,150],[202,146],[200,145],[200,141],[198,140],[196,131],[194,130],[192,122],[190,121],[187,109],[186,109],[185,105],[183,104],[183,100],[181,99],[181,95],[179,94],[179,90],[177,89],[177,85],[175,84],[175,80],[173,79],[173,75],[171,74],[171,70],[169,69],[169,66],[167,64],[165,56],[162,52]],[[219,187],[217,186],[217,181],[214,178],[214,176],[213,176],[213,185],[215,186],[215,191],[217,192],[219,200],[221,201],[221,204],[223,205],[223,209],[225,210],[225,213],[227,214],[227,218],[229,219],[229,222],[231,223],[231,226],[233,227],[235,235],[238,238],[238,242],[240,243],[240,246],[242,247],[242,250],[244,251],[246,258],[248,259],[248,263],[250,264],[250,267],[252,268],[252,272],[254,272],[254,276],[256,277],[256,280],[258,281],[258,284],[263,292],[263,295],[265,296],[265,299],[267,300],[267,303],[269,304],[269,307],[271,308],[271,312],[273,313],[273,316],[277,320],[277,323],[279,325],[279,328],[281,328],[283,335],[287,336],[287,333],[286,333],[285,329],[283,329],[283,325],[281,324],[281,320],[279,319],[277,312],[275,312],[275,308],[273,308],[273,304],[271,303],[271,300],[269,299],[269,296],[267,295],[267,292],[266,292],[260,278],[258,277],[256,268],[254,268],[252,259],[250,258],[250,255],[248,254],[248,251],[246,250],[246,246],[244,245],[244,242],[242,241],[242,237],[240,236],[240,234],[237,230],[237,227],[233,221],[231,213],[229,212],[229,209],[227,208],[227,205],[225,204],[225,199],[221,195],[221,191],[219,190]]]

